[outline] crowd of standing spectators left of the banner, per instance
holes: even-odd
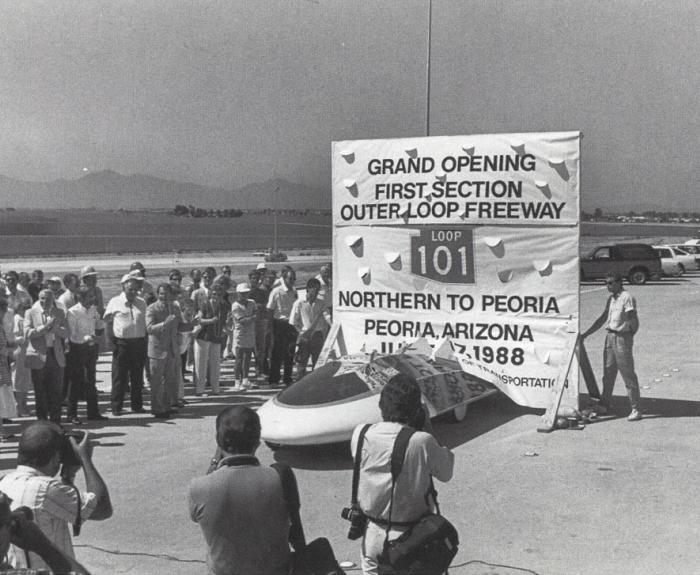
[[[244,279],[236,282],[230,266],[219,273],[209,266],[188,278],[171,269],[167,281],[153,285],[137,261],[121,278],[121,293],[106,301],[93,266],[48,279],[42,270],[6,272],[0,280],[2,421],[32,415],[32,390],[37,419],[82,425],[81,401],[87,420],[107,419],[96,388],[98,356],[107,349],[116,417],[127,396],[132,412],[146,411],[146,382],[153,416],[171,417],[186,403],[188,367],[195,396],[220,393],[225,360],[235,360],[231,391],[291,384],[295,365],[297,378],[315,365],[330,327],[331,265],[321,266],[302,297],[291,266],[278,277],[259,264]]]

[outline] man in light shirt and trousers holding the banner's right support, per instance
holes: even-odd
[[[632,407],[627,419],[638,421],[642,419],[642,411],[639,405],[639,381],[634,371],[634,358],[632,357],[634,334],[639,329],[637,302],[622,287],[622,276],[619,272],[608,273],[605,276],[605,285],[610,292],[605,309],[600,317],[593,322],[593,325],[581,334],[582,338],[586,338],[598,331],[603,324],[607,324],[603,350],[603,396],[598,406],[598,412],[607,413],[610,409],[610,400],[619,371],[622,375],[622,381],[625,382],[627,396]]]

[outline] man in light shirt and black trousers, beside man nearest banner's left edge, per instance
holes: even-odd
[[[294,366],[294,348],[297,342],[297,330],[289,323],[292,306],[299,297],[294,283],[297,275],[293,269],[282,272],[282,283],[272,290],[267,302],[267,309],[272,312],[272,357],[270,358],[270,385],[278,385],[280,368],[284,365],[285,385],[292,383]]]

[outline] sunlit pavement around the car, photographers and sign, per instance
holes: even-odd
[[[633,575],[695,573],[700,564],[700,275],[633,287],[640,307],[636,341],[646,417],[620,416],[583,431],[537,433],[540,412],[504,396],[472,406],[460,424],[437,424],[456,453],[454,479],[438,485],[462,545],[452,574]],[[585,328],[605,300],[601,284],[581,288]],[[600,373],[602,333],[588,341]],[[231,379],[225,365],[224,379]],[[106,390],[109,363],[100,362]],[[93,431],[96,464],[110,485],[115,514],[88,523],[77,553],[94,573],[204,573],[204,543],[186,510],[187,484],[214,450],[214,416],[222,405],[259,405],[271,392],[197,399],[172,421],[127,415]],[[3,444],[0,467],[13,467],[15,444]],[[536,456],[531,454],[536,453]],[[530,454],[530,455],[528,455]],[[296,468],[308,537],[328,537],[341,559],[357,562],[339,517],[349,499],[347,445],[262,447],[263,463]],[[350,570],[349,573],[357,573]]]

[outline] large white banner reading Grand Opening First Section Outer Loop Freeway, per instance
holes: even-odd
[[[579,144],[579,132],[334,142],[333,310],[348,351],[450,338],[514,401],[547,407],[578,331]]]

